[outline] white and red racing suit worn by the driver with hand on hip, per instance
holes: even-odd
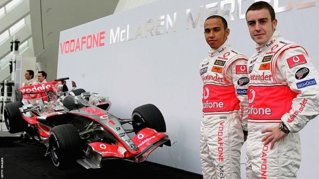
[[[246,178],[296,178],[301,163],[299,131],[319,113],[318,72],[306,50],[276,30],[248,60]],[[283,122],[290,133],[270,150],[261,134]]]

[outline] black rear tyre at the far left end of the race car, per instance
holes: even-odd
[[[27,128],[28,122],[25,121],[20,113],[19,108],[22,107],[22,103],[20,101],[8,103],[5,106],[4,110],[4,118],[7,129],[9,133],[19,133],[24,131]]]

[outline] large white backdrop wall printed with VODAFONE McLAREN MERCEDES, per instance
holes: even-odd
[[[268,2],[277,6],[276,11],[283,11],[277,13],[281,34],[303,45],[319,69],[316,0]],[[109,95],[110,111],[120,118],[130,117],[132,110],[140,105],[156,105],[165,117],[168,135],[176,143],[154,150],[148,160],[201,173],[202,81],[198,65],[209,50],[204,40],[203,20],[210,14],[221,14],[223,9],[224,13],[231,12],[232,16],[225,15],[231,29],[231,44],[249,57],[254,53],[255,43],[249,37],[243,17],[252,3],[254,0],[161,0],[62,31],[57,76],[69,76],[86,91]],[[94,47],[90,46],[93,37],[90,35],[99,36],[95,38]],[[301,132],[303,158],[299,178],[316,177],[317,119]],[[244,152],[245,145],[242,163]]]

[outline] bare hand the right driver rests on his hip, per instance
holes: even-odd
[[[268,127],[264,130],[261,131],[262,134],[269,132],[264,138],[262,138],[261,141],[264,142],[264,145],[267,145],[271,142],[270,149],[272,149],[275,145],[275,143],[286,137],[287,134],[284,132],[280,131],[278,127]]]

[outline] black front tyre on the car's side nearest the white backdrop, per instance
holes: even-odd
[[[159,109],[152,104],[135,108],[132,113],[132,119],[132,125],[135,134],[145,127],[154,129],[157,132],[166,132],[164,117],[161,111],[159,111]]]

